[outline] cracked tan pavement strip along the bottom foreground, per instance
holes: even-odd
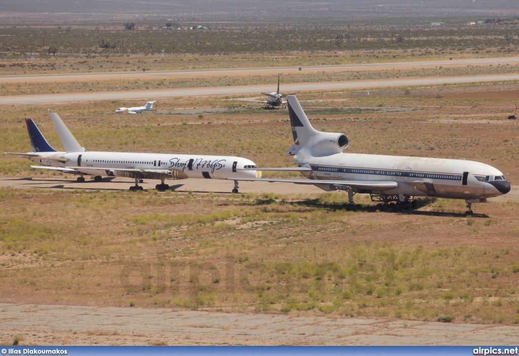
[[[517,345],[519,326],[0,304],[21,345]]]

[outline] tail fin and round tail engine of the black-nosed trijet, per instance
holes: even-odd
[[[286,102],[294,137],[294,145],[285,152],[286,155],[294,155],[304,149],[307,154],[312,156],[326,156],[342,153],[348,147],[349,139],[345,134],[321,132],[314,129],[295,95],[287,95]]]

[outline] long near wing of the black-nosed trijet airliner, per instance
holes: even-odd
[[[350,187],[353,189],[366,189],[386,191],[398,188],[398,182],[392,180],[321,180],[321,179],[277,179],[277,178],[227,178],[222,177],[218,179],[227,180],[245,180],[245,181],[263,181],[263,182],[281,182],[281,183],[295,183],[295,184],[310,184],[312,186],[336,186],[337,188]]]

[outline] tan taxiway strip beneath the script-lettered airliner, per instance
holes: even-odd
[[[127,190],[133,185],[128,178],[104,178],[101,182],[94,182],[86,177],[84,183],[76,182],[75,178],[52,179],[52,178],[1,178],[0,187],[11,188],[52,188],[52,189],[86,189],[86,190]],[[155,184],[160,183],[158,180],[147,179],[144,183],[140,183],[144,189],[155,189]],[[221,179],[185,179],[177,181],[167,181],[170,189],[179,192],[191,191],[194,193],[228,193],[233,189],[233,181]],[[302,184],[278,183],[278,182],[240,182],[240,193],[275,193],[275,194],[293,194],[293,193],[323,193],[324,191],[314,187]],[[502,196],[490,198],[489,201],[507,201],[519,200],[519,186],[512,186],[512,190]]]

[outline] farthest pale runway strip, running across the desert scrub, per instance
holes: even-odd
[[[497,65],[515,64],[519,58],[484,58],[464,60],[437,60],[395,63],[366,63],[349,65],[324,65],[301,67],[302,72],[340,72],[343,70],[382,70],[405,68],[429,68],[435,66],[459,67],[466,65]],[[81,73],[81,74],[53,74],[53,75],[19,75],[0,76],[0,83],[9,82],[45,82],[45,81],[76,81],[76,80],[106,80],[106,79],[173,79],[197,78],[207,76],[244,76],[270,75],[278,73],[299,73],[299,67],[269,67],[269,68],[236,68],[236,69],[199,69],[199,70],[165,70],[161,72],[121,72],[121,73]]]

